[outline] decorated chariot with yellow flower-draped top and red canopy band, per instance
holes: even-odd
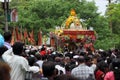
[[[84,48],[94,50],[95,40],[95,31],[82,26],[74,9],[62,26],[56,27],[55,32],[50,32],[50,44],[56,49],[67,46],[69,50],[75,50],[82,45]]]

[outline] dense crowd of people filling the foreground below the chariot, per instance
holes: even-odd
[[[119,49],[58,52],[11,38],[0,35],[0,80],[120,80]]]

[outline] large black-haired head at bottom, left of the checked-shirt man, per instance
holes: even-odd
[[[56,69],[55,69],[55,63],[52,61],[45,61],[42,65],[43,75],[44,77],[54,77],[56,76]]]

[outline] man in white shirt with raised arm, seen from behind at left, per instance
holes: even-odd
[[[29,71],[27,59],[20,56],[23,51],[23,43],[16,42],[13,47],[3,55],[5,62],[11,67],[11,80],[25,80],[25,73]]]

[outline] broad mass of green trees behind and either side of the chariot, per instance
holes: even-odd
[[[55,26],[61,26],[68,18],[70,10],[75,9],[77,16],[84,20],[82,24],[87,28],[93,27],[96,31],[95,48],[109,49],[120,43],[118,35],[116,35],[120,28],[119,5],[115,6],[115,9],[112,7],[112,11],[109,11],[107,17],[97,13],[94,1],[87,2],[86,0],[12,0],[10,7],[17,8],[19,14],[19,21],[10,23],[10,26],[22,26],[28,31],[34,29],[35,33],[41,29],[43,34],[54,31]],[[111,15],[112,17],[110,17]],[[117,31],[115,35],[110,31],[107,19],[112,20],[113,26],[115,26],[113,30]]]

